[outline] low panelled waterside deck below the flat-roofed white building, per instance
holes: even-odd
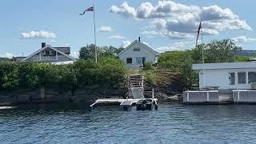
[[[184,103],[255,103],[256,90],[192,90],[182,94]]]

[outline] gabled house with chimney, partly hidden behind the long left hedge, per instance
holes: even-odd
[[[46,45],[45,42],[42,42],[41,49],[30,54],[26,58],[17,58],[21,59],[21,62],[74,62],[75,58],[70,55],[70,47],[53,47]]]

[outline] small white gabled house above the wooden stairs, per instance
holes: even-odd
[[[138,69],[142,67],[145,62],[156,64],[158,55],[158,52],[140,42],[140,38],[138,38],[138,40],[135,40],[127,46],[125,50],[122,50],[118,54],[118,58],[125,62],[128,68]]]

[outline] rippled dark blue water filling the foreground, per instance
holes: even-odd
[[[0,110],[1,143],[254,143],[256,105],[122,111],[100,106],[21,106]]]

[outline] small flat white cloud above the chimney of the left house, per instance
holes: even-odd
[[[48,31],[31,31],[22,33],[22,38],[56,38],[56,34]]]

